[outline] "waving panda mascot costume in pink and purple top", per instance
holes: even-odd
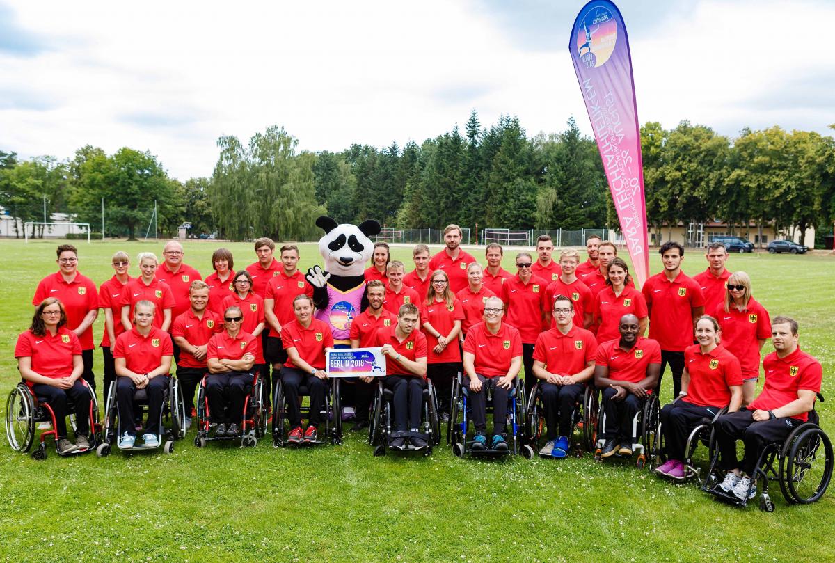
[[[380,233],[377,221],[362,221],[360,226],[337,224],[331,217],[316,219],[316,226],[325,231],[319,239],[319,253],[325,261],[325,269],[313,266],[305,276],[313,287],[314,317],[328,323],[337,347],[351,346],[349,332],[351,322],[368,307],[365,268],[374,251],[374,242],[368,238]],[[355,418],[355,388],[345,380],[341,394],[342,419]],[[362,401],[364,403],[364,401]]]

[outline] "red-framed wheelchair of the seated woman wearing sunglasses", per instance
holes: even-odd
[[[266,390],[265,378],[261,377],[260,372],[253,373],[252,385],[247,386],[249,393],[244,398],[244,413],[240,425],[240,435],[216,437],[210,435],[211,415],[209,412],[209,398],[206,397],[206,378],[208,377],[208,374],[204,375],[200,379],[200,386],[197,388],[197,402],[195,403],[195,409],[197,410],[197,435],[195,436],[195,446],[205,448],[206,442],[215,440],[240,440],[241,448],[244,446],[255,448],[258,444],[258,439],[266,435],[267,417],[269,416],[269,406],[267,403],[269,395]],[[229,409],[228,405],[226,409]]]

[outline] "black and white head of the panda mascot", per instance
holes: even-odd
[[[316,219],[316,226],[325,231],[319,239],[319,253],[325,259],[325,270],[331,276],[362,276],[366,262],[374,251],[374,242],[368,238],[380,232],[377,221],[362,221],[360,226],[342,223],[331,217]]]

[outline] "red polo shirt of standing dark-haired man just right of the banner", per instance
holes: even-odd
[[[692,346],[692,309],[705,305],[699,284],[683,271],[670,282],[662,271],[651,276],[641,292],[650,309],[650,338],[671,352],[684,352]]]

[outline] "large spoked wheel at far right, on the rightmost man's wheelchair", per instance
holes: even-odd
[[[809,505],[823,496],[832,479],[832,442],[816,425],[799,430],[783,448],[780,487],[789,502]]]

